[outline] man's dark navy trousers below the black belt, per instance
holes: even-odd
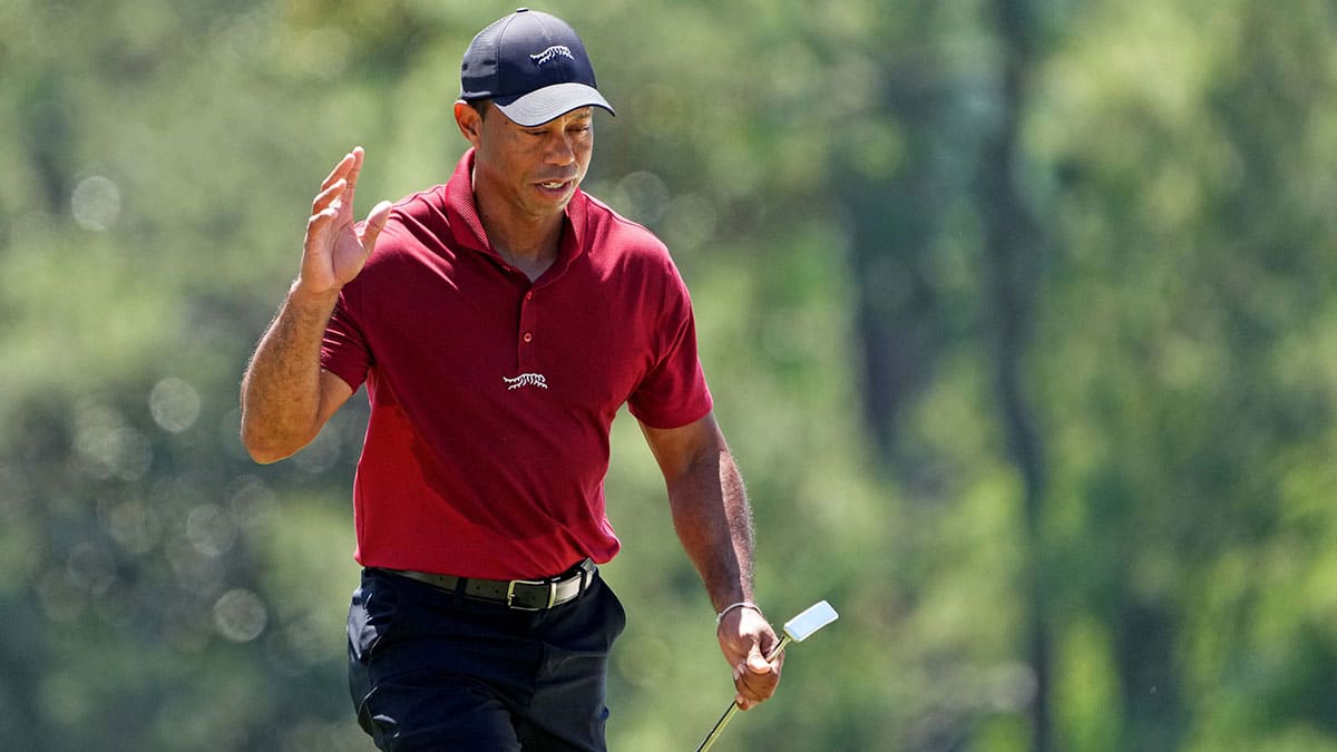
[[[626,628],[598,574],[519,612],[365,569],[348,617],[349,692],[385,751],[603,751],[608,650]]]

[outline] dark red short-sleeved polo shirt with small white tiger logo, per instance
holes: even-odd
[[[687,288],[658,238],[579,191],[531,284],[492,250],[472,167],[394,206],[325,333],[321,364],[372,408],[354,555],[493,579],[607,562],[618,408],[656,428],[711,409]]]

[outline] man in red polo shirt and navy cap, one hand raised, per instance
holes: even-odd
[[[364,383],[361,587],[349,684],[382,749],[603,749],[599,579],[608,431],[627,404],[719,617],[747,709],[779,681],[753,602],[750,511],[663,245],[580,191],[595,88],[580,37],[520,9],[464,54],[472,146],[444,186],[353,217],[362,150],[312,205],[301,270],[247,367],[258,462],[309,443]]]

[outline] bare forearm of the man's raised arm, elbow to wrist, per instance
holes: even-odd
[[[320,431],[321,340],[337,292],[294,285],[242,379],[242,443],[257,462],[283,459]]]

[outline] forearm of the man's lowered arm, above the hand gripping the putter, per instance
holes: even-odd
[[[674,529],[719,612],[753,601],[751,511],[723,440],[668,484]]]

